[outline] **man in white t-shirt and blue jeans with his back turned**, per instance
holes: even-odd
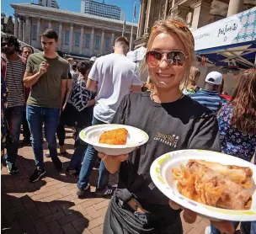
[[[88,90],[97,92],[92,125],[110,123],[125,94],[141,92],[141,80],[136,72],[136,64],[126,57],[128,50],[128,40],[120,36],[115,40],[115,52],[99,57],[93,64],[87,82]],[[97,157],[98,152],[89,145],[83,158],[77,183],[78,197],[82,197],[90,191],[89,178]],[[96,195],[113,194],[114,189],[109,187],[108,181],[109,172],[105,168],[104,162],[101,161]]]

